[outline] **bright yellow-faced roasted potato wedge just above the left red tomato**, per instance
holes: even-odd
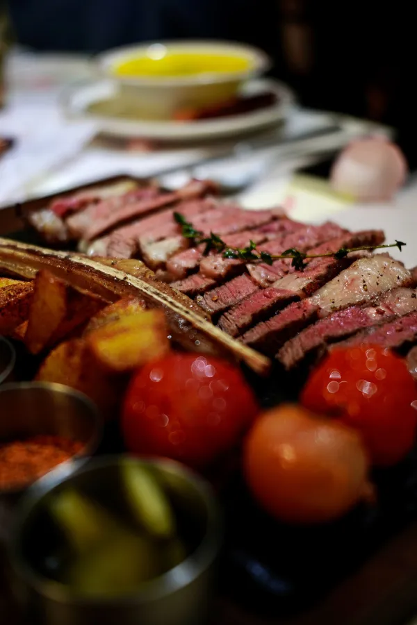
[[[170,349],[162,310],[130,313],[90,332],[86,341],[97,362],[113,372],[129,372]]]

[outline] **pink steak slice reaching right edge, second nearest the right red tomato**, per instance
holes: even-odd
[[[299,365],[306,356],[316,356],[326,344],[341,341],[362,328],[391,321],[417,310],[417,290],[399,288],[382,295],[370,306],[349,306],[306,328],[287,341],[277,353],[286,369]]]

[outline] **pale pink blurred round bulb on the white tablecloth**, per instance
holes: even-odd
[[[384,137],[353,141],[338,156],[330,183],[343,195],[363,202],[390,201],[407,177],[400,148]]]

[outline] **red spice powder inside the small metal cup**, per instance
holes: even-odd
[[[0,445],[0,489],[35,481],[83,447],[78,440],[43,435]]]

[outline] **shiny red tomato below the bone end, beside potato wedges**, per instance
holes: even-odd
[[[204,467],[234,447],[258,412],[236,367],[212,356],[173,353],[132,378],[122,431],[133,453]]]

